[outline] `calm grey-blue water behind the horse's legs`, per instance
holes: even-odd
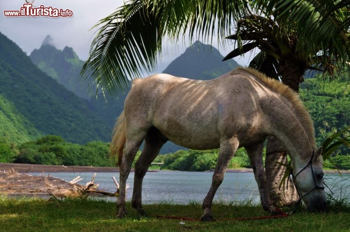
[[[42,173],[29,173],[41,175]],[[80,184],[89,182],[94,173],[67,173],[55,172],[52,176],[70,181],[76,176],[84,178]],[[45,173],[48,175],[48,173]],[[95,183],[100,184],[99,189],[107,192],[115,192],[116,186],[112,180],[115,176],[119,181],[118,172],[99,172],[96,174]],[[187,171],[158,171],[147,172],[142,186],[142,202],[144,203],[178,203],[188,204],[190,202],[201,203],[207,195],[211,184],[212,172],[187,172]],[[131,200],[133,190],[134,173],[130,173],[127,183],[130,185],[127,190],[127,200]],[[338,174],[327,174],[325,176],[327,185],[336,196],[350,196],[350,174],[344,174],[343,178]],[[327,189],[327,187],[326,187]],[[330,190],[327,189],[330,193]],[[109,198],[115,200],[115,198]],[[215,194],[214,201],[236,202],[250,201],[259,203],[259,190],[253,173],[227,172],[224,181]]]

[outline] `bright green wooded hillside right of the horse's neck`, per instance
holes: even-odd
[[[339,73],[332,82],[318,78],[306,79],[301,84],[300,96],[314,120],[317,144],[331,133],[350,126],[349,70]],[[343,154],[350,154],[343,149]]]

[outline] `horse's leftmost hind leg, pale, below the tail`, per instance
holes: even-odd
[[[126,142],[124,154],[122,158],[121,165],[119,167],[119,196],[117,200],[117,205],[119,207],[119,213],[117,217],[124,217],[126,215],[125,209],[125,199],[126,199],[126,180],[129,176],[132,162],[135,159],[136,152],[140,147],[140,143],[130,143]]]

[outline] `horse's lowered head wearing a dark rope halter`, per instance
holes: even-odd
[[[325,211],[327,205],[323,185],[322,147],[313,151],[309,163],[293,168],[293,180],[297,187],[299,198],[302,199],[308,211]]]

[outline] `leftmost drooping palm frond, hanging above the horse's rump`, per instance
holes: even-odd
[[[141,1],[125,4],[100,20],[94,27],[100,28],[82,75],[101,85],[103,91],[116,93],[127,85],[128,76],[140,75],[141,67],[154,68],[155,54],[161,46],[157,20]]]

